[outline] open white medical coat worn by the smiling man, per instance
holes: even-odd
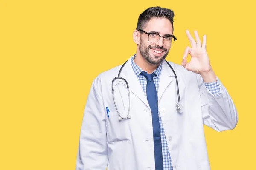
[[[119,65],[99,74],[92,83],[81,125],[76,170],[105,170],[107,166],[108,170],[155,170],[151,111],[130,60],[120,76],[129,85],[131,119],[119,121],[113,102],[111,83]],[[213,96],[199,74],[169,63],[177,75],[184,111],[180,114],[175,109],[175,76],[165,61],[158,107],[174,170],[210,170],[203,124],[216,131],[233,129],[238,122],[235,105],[220,80],[221,96]],[[123,83],[115,80],[115,98],[120,113],[126,116],[129,99]]]

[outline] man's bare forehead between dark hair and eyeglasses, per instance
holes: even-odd
[[[172,34],[172,23],[167,18],[152,18],[146,24],[144,31],[157,31],[161,34]]]

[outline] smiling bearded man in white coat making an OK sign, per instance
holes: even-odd
[[[212,70],[205,35],[201,42],[197,31],[194,40],[187,30],[191,47],[186,47],[181,66],[169,62],[172,71],[167,64],[176,40],[173,17],[172,10],[160,7],[140,14],[133,32],[137,51],[122,68],[123,79],[113,81],[114,94],[112,80],[122,65],[94,79],[76,170],[210,170],[203,124],[231,130],[238,116]]]

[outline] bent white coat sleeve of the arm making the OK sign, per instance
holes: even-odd
[[[218,132],[234,129],[238,122],[238,115],[227,89],[218,79],[221,95],[214,96],[204,86],[204,81],[201,75],[197,74],[196,76],[201,96],[204,125],[207,125]]]

